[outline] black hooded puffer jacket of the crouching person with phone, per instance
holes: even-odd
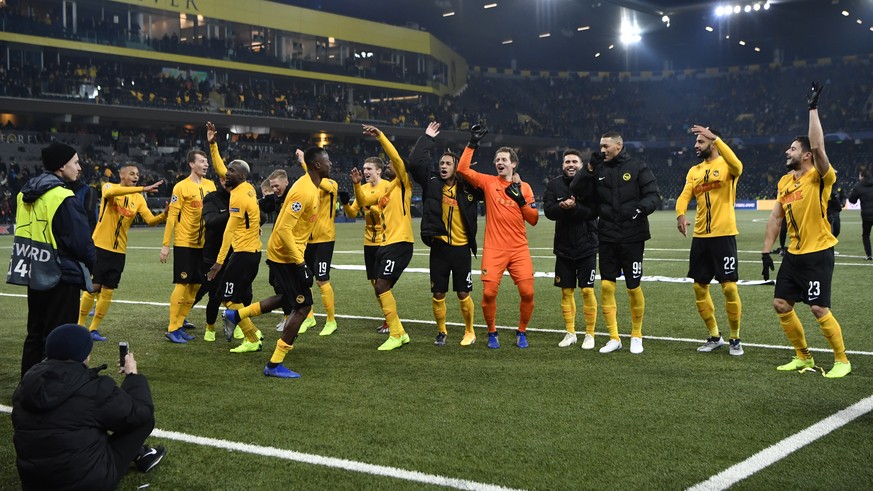
[[[107,431],[154,425],[146,378],[121,387],[73,360],[46,360],[24,375],[12,398],[12,441],[28,489],[115,489],[118,475]]]

